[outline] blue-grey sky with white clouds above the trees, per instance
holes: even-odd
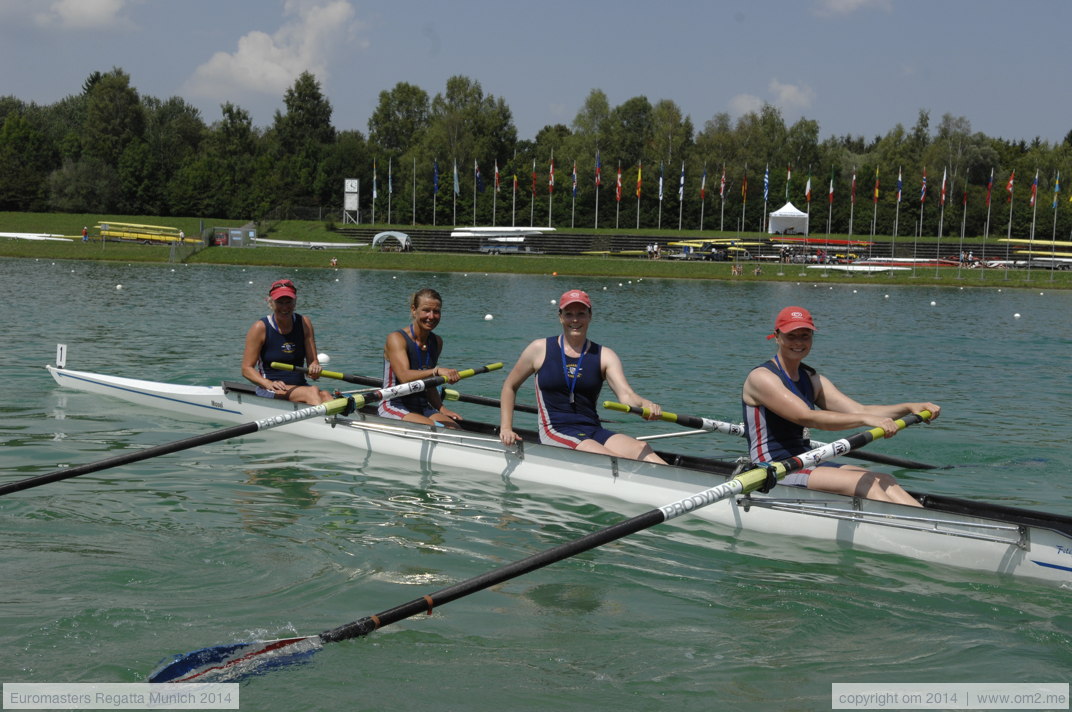
[[[0,0],[0,95],[51,104],[119,68],[142,94],[257,127],[313,73],[339,130],[368,133],[379,92],[434,97],[450,76],[513,114],[518,137],[668,99],[697,131],[763,103],[820,137],[870,139],[920,109],[973,131],[1057,143],[1072,131],[1068,0]],[[1062,87],[1066,87],[1062,89]]]

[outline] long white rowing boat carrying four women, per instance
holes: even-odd
[[[190,386],[47,366],[58,384],[215,422],[245,422],[298,410],[258,398],[248,384]],[[647,506],[686,498],[728,479],[735,463],[659,453],[670,464],[638,462],[539,445],[502,445],[491,426],[461,430],[414,426],[366,409],[349,416],[296,421],[287,432],[370,454],[417,460],[421,469],[464,468],[516,486],[581,491]],[[776,487],[695,513],[733,537],[807,537],[837,549],[898,554],[950,569],[1072,587],[1072,517],[912,492],[922,509]],[[613,506],[613,505],[610,505]],[[778,552],[786,551],[779,547]],[[788,548],[791,551],[791,548]],[[791,553],[789,555],[792,555]]]

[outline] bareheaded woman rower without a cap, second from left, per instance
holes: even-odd
[[[443,317],[443,297],[435,290],[420,290],[410,299],[410,326],[387,335],[387,343],[384,344],[384,387],[437,375],[448,383],[457,383],[457,370],[438,366],[443,338],[432,333]],[[381,401],[379,415],[425,425],[440,422],[449,427],[457,427],[455,420],[462,417],[443,405],[440,391],[434,388]]]

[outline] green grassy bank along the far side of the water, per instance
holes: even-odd
[[[147,217],[110,217],[111,220],[167,224],[182,227],[196,235],[200,221],[196,219],[160,219]],[[96,216],[0,212],[0,232],[50,233],[80,235],[83,225],[96,224]],[[232,221],[233,222],[233,221]],[[219,221],[212,224],[228,224]],[[318,222],[287,221],[277,223],[271,232],[276,239],[340,241]],[[0,238],[0,256],[39,259],[102,259],[110,262],[167,263],[170,249],[166,246],[102,242],[31,241]],[[230,249],[209,248],[189,257],[191,264],[257,265],[282,267],[330,268],[331,258],[345,269],[400,269],[417,271],[509,272],[518,275],[599,276],[622,278],[720,279],[736,281],[829,282],[843,284],[936,284],[976,287],[1072,288],[1072,272],[1049,270],[961,269],[955,267],[920,267],[913,271],[878,275],[853,275],[832,269],[812,269],[801,265],[764,264],[759,275],[755,263],[744,265],[744,273],[733,276],[730,263],[678,262],[672,259],[563,255],[485,255],[455,253],[378,252],[370,248],[347,248],[332,251],[297,248]]]

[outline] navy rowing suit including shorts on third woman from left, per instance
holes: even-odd
[[[602,428],[596,403],[602,389],[602,347],[585,341],[581,355],[566,356],[563,337],[548,337],[544,364],[536,372],[539,440],[576,448],[585,440],[600,445],[614,433]]]

